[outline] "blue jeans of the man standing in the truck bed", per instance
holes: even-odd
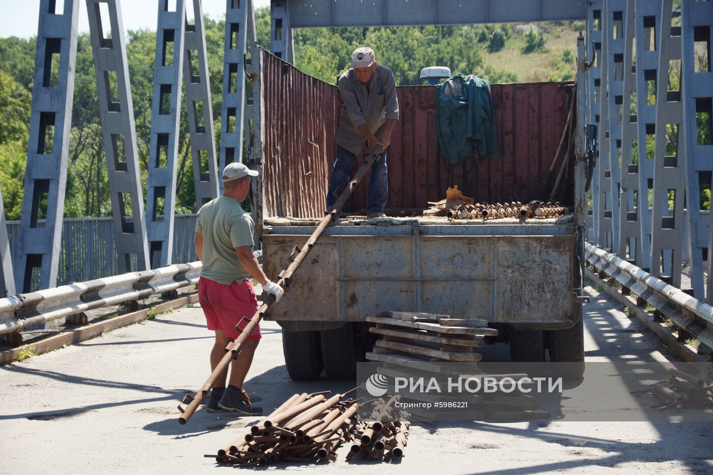
[[[366,195],[366,214],[383,213],[386,199],[389,198],[389,182],[386,173],[386,152],[381,153],[381,158],[371,165],[371,178],[369,178],[369,193]],[[337,159],[334,160],[332,176],[329,178],[329,189],[327,190],[327,208],[337,201],[334,192],[340,186],[347,188],[349,184],[349,174],[352,173],[356,155],[346,148],[337,145]],[[339,190],[338,194],[342,194]]]

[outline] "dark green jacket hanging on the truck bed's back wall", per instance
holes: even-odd
[[[490,83],[457,74],[438,86],[436,96],[438,144],[450,163],[471,155],[498,155],[498,136]]]

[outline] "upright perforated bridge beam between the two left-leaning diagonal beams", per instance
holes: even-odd
[[[171,263],[178,131],[185,38],[185,0],[158,2],[151,104],[146,220],[153,268]],[[175,6],[175,11],[169,9]]]

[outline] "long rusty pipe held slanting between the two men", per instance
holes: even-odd
[[[304,243],[304,246],[302,246],[302,249],[299,251],[299,253],[294,257],[290,256],[290,259],[292,259],[292,263],[287,267],[286,270],[283,270],[279,273],[280,278],[277,281],[278,285],[282,286],[285,292],[289,290],[289,281],[292,279],[292,275],[294,275],[294,272],[297,271],[297,268],[300,264],[302,264],[305,257],[307,257],[309,251],[312,250],[314,244],[317,243],[319,237],[322,237],[324,230],[326,230],[329,225],[334,222],[334,220],[337,220],[337,217],[339,216],[339,211],[341,211],[344,207],[344,203],[347,203],[349,196],[354,193],[356,186],[359,185],[359,182],[361,182],[361,179],[364,178],[366,172],[369,171],[371,165],[379,159],[379,153],[381,153],[381,147],[379,145],[369,151],[369,154],[366,155],[364,163],[361,164],[359,170],[356,170],[354,178],[349,181],[347,187],[344,188],[342,194],[339,195],[339,198],[337,199],[337,202],[334,203],[332,210],[330,210],[329,213],[327,213],[327,215],[322,218],[322,222],[319,223],[319,226],[317,226],[317,229],[314,230],[312,236],[310,236],[307,242]],[[215,380],[220,376],[220,374],[222,374],[222,372],[225,371],[228,364],[230,364],[230,361],[232,359],[237,358],[237,354],[240,353],[240,348],[242,347],[242,344],[245,343],[245,340],[247,339],[248,335],[252,333],[252,330],[255,330],[255,327],[257,327],[257,325],[260,323],[262,317],[265,317],[267,310],[270,309],[270,305],[275,303],[275,296],[273,296],[272,294],[264,293],[262,295],[262,301],[262,305],[260,305],[260,307],[257,309],[257,312],[255,312],[255,315],[252,316],[250,321],[247,322],[247,325],[245,325],[242,330],[240,330],[240,328],[238,328],[236,325],[236,329],[240,332],[240,334],[235,339],[235,342],[232,342],[232,344],[228,345],[225,356],[222,357],[220,362],[217,364],[213,372],[210,373],[210,376],[202,385],[202,387],[198,390],[198,392],[195,393],[193,397],[191,397],[190,394],[186,394],[186,397],[183,398],[183,402],[188,399],[188,406],[183,409],[180,404],[178,405],[178,410],[181,412],[181,415],[178,418],[179,424],[185,424],[191,417],[193,417],[193,414],[195,413],[196,409],[198,409],[200,403],[203,401],[203,399],[205,399],[208,392],[210,391],[210,388],[212,388],[213,384],[215,384]],[[240,323],[242,324],[242,322]]]

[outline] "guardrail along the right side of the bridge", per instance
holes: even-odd
[[[713,349],[713,307],[589,242],[585,259]]]

